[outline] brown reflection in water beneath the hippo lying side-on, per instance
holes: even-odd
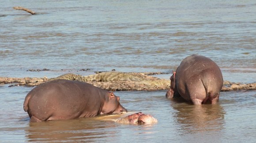
[[[25,129],[26,138],[33,142],[71,140],[95,142],[107,136],[116,136],[117,133],[112,130],[116,126],[114,122],[94,120],[94,118],[39,122],[29,125]]]

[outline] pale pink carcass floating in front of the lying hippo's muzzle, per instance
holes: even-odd
[[[121,124],[154,124],[158,121],[150,114],[143,114],[142,112],[138,112],[128,115],[124,118],[117,119],[116,122]]]

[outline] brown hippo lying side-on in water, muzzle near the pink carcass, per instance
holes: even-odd
[[[86,82],[57,79],[32,89],[23,108],[30,122],[122,114],[127,110],[120,97]]]

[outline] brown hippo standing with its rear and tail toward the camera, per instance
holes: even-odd
[[[216,104],[223,86],[222,72],[211,59],[199,55],[184,58],[170,77],[166,98],[182,97],[193,104]]]

